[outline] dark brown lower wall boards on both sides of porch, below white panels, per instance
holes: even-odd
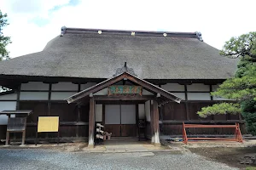
[[[227,124],[241,122],[239,115],[216,115],[202,118],[196,114],[201,111],[202,107],[213,105],[217,101],[185,101],[181,104],[169,103],[161,107],[160,116],[162,123],[160,124],[160,133],[162,135],[181,135],[182,122],[193,123],[214,123]],[[48,102],[38,101],[20,101],[20,110],[32,110],[33,114],[27,118],[26,139],[34,139],[37,131],[38,116],[60,116],[60,136],[70,137],[88,137],[88,121],[89,121],[89,103],[80,106],[75,104],[67,104],[51,101],[50,111],[48,111]],[[233,121],[233,122],[232,122]],[[0,126],[0,137],[5,139],[6,126]],[[234,129],[222,128],[190,128],[188,134],[234,134]],[[241,132],[246,133],[245,125],[241,124]],[[147,136],[151,135],[150,122],[147,122]],[[21,136],[17,134],[15,138]],[[55,133],[41,133],[39,138],[55,138]],[[11,135],[11,139],[14,135]]]

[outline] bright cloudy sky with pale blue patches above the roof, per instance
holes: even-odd
[[[8,14],[9,56],[42,51],[61,26],[134,31],[200,31],[221,49],[230,37],[256,31],[256,0],[0,0]]]

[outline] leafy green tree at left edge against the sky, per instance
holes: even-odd
[[[0,10],[0,60],[9,58],[9,52],[6,49],[6,46],[11,43],[10,37],[4,36],[2,32],[3,27],[9,25],[6,18],[7,14],[3,14]]]

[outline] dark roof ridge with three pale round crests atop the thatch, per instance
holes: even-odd
[[[201,42],[201,32],[177,32],[177,31],[132,31],[132,30],[112,30],[112,29],[92,29],[92,28],[72,28],[72,27],[61,27],[61,37],[64,34],[122,34],[130,36],[144,36],[144,37],[185,37],[185,38],[196,38]]]

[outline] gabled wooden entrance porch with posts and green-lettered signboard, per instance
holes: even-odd
[[[94,147],[96,132],[96,103],[106,102],[113,105],[105,105],[103,112],[103,122],[105,131],[111,132],[113,136],[137,136],[137,105],[128,105],[135,101],[145,103],[150,101],[148,117],[150,116],[150,124],[146,128],[146,133],[151,134],[151,143],[160,145],[160,129],[159,129],[159,107],[168,102],[175,101],[180,103],[182,99],[169,93],[168,91],[150,83],[143,79],[131,75],[125,65],[125,71],[119,73],[108,80],[100,82],[90,88],[85,89],[78,94],[74,94],[67,98],[67,102],[78,103],[82,105],[86,99],[90,99],[89,111],[89,133],[88,146]],[[123,85],[115,85],[115,83],[123,82]],[[125,85],[125,82],[130,82]],[[132,85],[131,85],[132,84]],[[144,90],[144,93],[143,93]],[[146,93],[145,93],[146,92]],[[147,94],[149,93],[149,94]],[[127,105],[116,105],[117,101],[125,101]],[[116,103],[115,103],[116,102]],[[138,104],[138,103],[137,103]],[[103,109],[104,110],[104,109]],[[145,124],[146,122],[144,122]],[[148,123],[148,122],[147,122]],[[99,133],[104,133],[99,131]],[[98,137],[99,138],[99,137]]]

